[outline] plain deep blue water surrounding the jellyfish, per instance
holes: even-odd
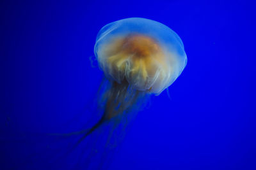
[[[115,152],[107,152],[109,165],[102,169],[256,169],[253,1],[0,6],[0,169],[45,169],[42,164],[50,163],[52,169],[86,168],[88,158],[80,152],[86,144],[70,159],[55,161],[74,137],[44,134],[93,125],[89,118],[97,117],[93,100],[102,80],[89,59],[95,38],[102,26],[129,17],[156,20],[177,32],[188,65],[169,87],[171,99],[166,91],[150,99]],[[44,152],[46,143],[51,152]],[[91,160],[92,169],[98,160]]]

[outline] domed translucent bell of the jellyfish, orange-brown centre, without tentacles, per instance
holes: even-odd
[[[145,18],[127,18],[102,27],[94,53],[109,80],[127,80],[133,89],[155,95],[178,78],[187,62],[179,36]]]

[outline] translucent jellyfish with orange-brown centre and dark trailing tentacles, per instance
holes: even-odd
[[[146,18],[125,18],[102,27],[94,53],[106,79],[99,99],[103,114],[79,141],[104,122],[138,112],[141,101],[159,96],[187,63],[179,36],[166,25]]]

